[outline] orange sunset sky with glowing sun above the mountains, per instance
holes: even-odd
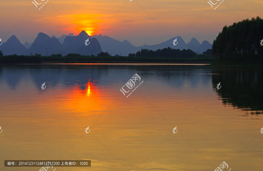
[[[260,0],[225,0],[216,10],[207,0],[49,0],[41,10],[42,4],[36,8],[32,0],[1,0],[0,4],[0,38],[6,42],[15,35],[22,44],[32,43],[39,32],[60,37],[82,30],[128,40],[135,46],[155,45],[181,35],[186,43],[192,37],[212,43],[224,25],[240,18],[263,18]]]

